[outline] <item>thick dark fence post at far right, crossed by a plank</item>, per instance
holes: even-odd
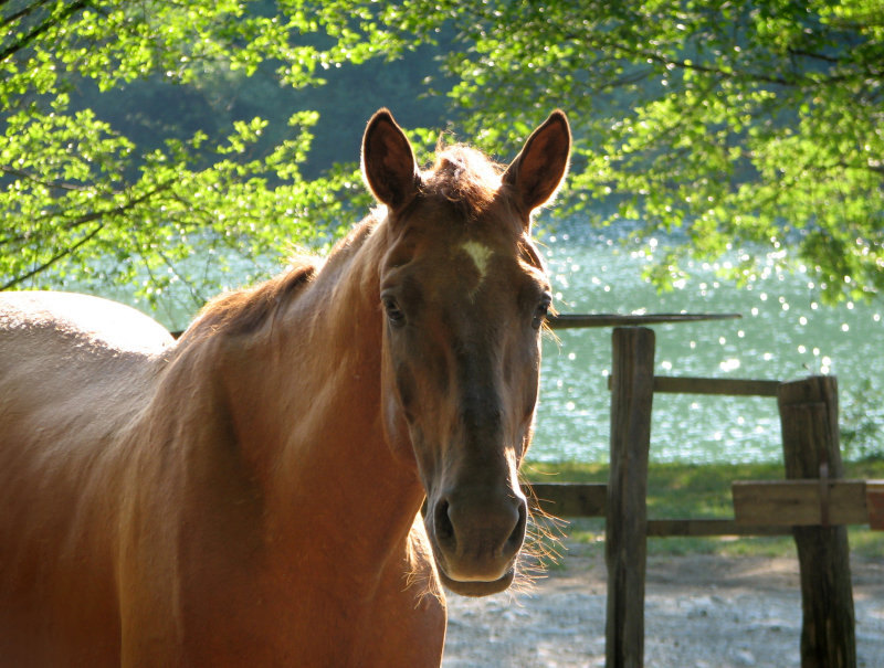
[[[787,478],[820,479],[821,527],[794,527],[801,570],[802,668],[856,666],[850,548],[844,526],[829,524],[827,479],[844,475],[839,447],[838,380],[810,377],[780,385]]]

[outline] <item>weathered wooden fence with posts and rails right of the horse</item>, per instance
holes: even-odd
[[[602,325],[600,317],[594,318],[579,324],[575,319],[564,326]],[[836,379],[810,377],[783,383],[656,377],[654,332],[645,327],[615,328],[612,354],[608,484],[532,486],[541,508],[552,515],[606,518],[606,666],[640,668],[644,662],[649,536],[792,533],[801,573],[801,665],[855,667],[853,592],[844,524],[869,523],[884,529],[884,481],[843,479]],[[734,481],[733,519],[649,519],[648,456],[655,392],[776,396],[787,479]]]

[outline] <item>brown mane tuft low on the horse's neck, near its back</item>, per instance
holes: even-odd
[[[223,293],[202,307],[182,339],[222,330],[231,335],[255,331],[280,304],[306,286],[315,274],[315,261],[302,257],[288,271],[270,280]]]

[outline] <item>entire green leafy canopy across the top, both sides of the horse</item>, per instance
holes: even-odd
[[[685,250],[732,251],[748,279],[745,248],[761,244],[831,300],[884,290],[882,0],[7,0],[0,287],[94,274],[104,256],[114,280],[141,272],[149,294],[185,282],[204,296],[212,280],[181,264],[194,247],[324,237],[361,192],[352,166],[305,176],[316,106],[272,140],[266,120],[239,118],[223,136],[182,121],[144,142],[84,91],[224,97],[262,73],[316,91],[340,65],[428,43],[448,54],[446,117],[484,148],[509,156],[551,108],[569,114],[568,203],[682,240],[657,257],[661,284]]]

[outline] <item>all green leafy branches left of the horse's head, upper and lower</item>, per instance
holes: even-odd
[[[185,99],[230,91],[262,67],[275,85],[318,86],[324,68],[369,52],[317,38],[335,28],[297,3],[271,6],[0,2],[0,289],[137,283],[156,303],[183,283],[200,304],[220,278],[194,254],[223,263],[328,235],[337,193],[361,189],[352,167],[303,177],[315,112],[292,115],[264,146],[259,117],[233,119],[223,138],[177,127],[136,140],[83,106],[138,82]]]

